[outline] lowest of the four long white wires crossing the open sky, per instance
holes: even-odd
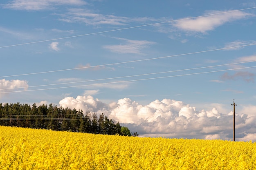
[[[24,91],[9,91],[9,92],[0,92],[0,94],[2,94],[2,93],[28,92],[28,91],[42,91],[42,90],[52,90],[52,89],[60,89],[60,88],[72,88],[72,87],[84,87],[84,86],[97,86],[97,85],[115,84],[115,83],[125,83],[125,82],[136,82],[136,81],[141,81],[141,80],[162,79],[162,78],[169,78],[169,77],[180,77],[180,76],[186,76],[186,75],[198,75],[198,74],[205,74],[205,73],[216,73],[216,72],[220,72],[220,71],[231,71],[231,70],[238,70],[238,69],[245,69],[245,68],[255,68],[255,67],[256,67],[256,66],[243,67],[243,68],[231,68],[231,69],[218,70],[218,71],[208,71],[208,72],[200,72],[200,73],[190,73],[190,74],[183,74],[183,75],[171,75],[171,76],[154,77],[154,78],[146,78],[146,79],[134,79],[134,80],[119,81],[119,82],[107,82],[107,83],[98,83],[98,84],[86,84],[86,85],[79,85],[79,86],[65,86],[65,87],[56,87],[56,88],[43,88],[43,89],[24,90]]]

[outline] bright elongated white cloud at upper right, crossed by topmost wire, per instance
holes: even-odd
[[[182,29],[184,31],[189,32],[201,32],[206,33],[207,31],[211,31],[216,27],[225,24],[227,22],[232,22],[234,20],[239,20],[242,18],[246,18],[248,16],[252,16],[250,13],[245,13],[242,11],[234,11],[230,13],[222,13],[225,11],[208,11],[204,15],[204,17],[193,18],[193,19],[185,19],[179,20],[177,22],[173,22],[173,26],[178,29]],[[211,15],[214,13],[221,13],[218,15]]]

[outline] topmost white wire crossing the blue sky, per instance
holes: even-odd
[[[165,22],[157,22],[157,23],[153,23],[153,24],[145,24],[145,25],[139,25],[139,26],[131,26],[131,27],[122,28],[122,29],[113,29],[113,30],[108,30],[108,31],[101,31],[101,32],[97,32],[97,33],[88,33],[88,34],[82,34],[82,35],[74,35],[74,36],[70,36],[70,37],[54,38],[54,39],[50,39],[50,40],[42,40],[42,41],[36,41],[36,42],[27,42],[27,43],[23,43],[23,44],[14,44],[14,45],[9,45],[9,46],[0,46],[0,48],[7,48],[7,47],[12,47],[12,46],[20,46],[20,45],[35,44],[35,43],[40,43],[40,42],[62,40],[62,39],[67,39],[67,38],[76,38],[76,37],[82,37],[82,36],[86,36],[86,35],[94,35],[94,34],[99,34],[99,33],[108,33],[108,32],[121,31],[121,30],[126,30],[126,29],[134,29],[134,28],[139,28],[139,27],[144,27],[144,26],[164,24],[164,23],[176,22],[176,21],[181,21],[181,20],[189,20],[189,19],[201,18],[201,17],[206,17],[206,16],[212,16],[212,15],[219,15],[219,14],[223,14],[223,13],[231,13],[231,12],[243,11],[243,10],[255,9],[255,8],[256,7],[245,8],[245,9],[237,9],[237,10],[233,10],[233,11],[225,11],[225,12],[220,12],[220,13],[212,13],[212,14],[201,15],[201,16],[196,16],[196,17],[182,18],[182,19],[178,19],[178,20],[171,20],[171,21],[165,21]]]

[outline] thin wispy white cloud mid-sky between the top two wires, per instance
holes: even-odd
[[[120,54],[143,54],[141,49],[148,48],[148,46],[155,44],[155,42],[146,40],[128,40],[125,38],[116,38],[117,40],[124,41],[124,44],[119,45],[106,45],[103,48],[108,49],[114,53]]]

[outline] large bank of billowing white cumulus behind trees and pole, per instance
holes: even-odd
[[[140,137],[175,137],[198,139],[233,138],[233,114],[220,113],[216,108],[196,110],[195,107],[173,99],[155,100],[141,105],[129,98],[104,104],[92,96],[66,97],[59,104],[63,107],[105,113],[119,121]],[[245,110],[246,111],[246,110]],[[246,112],[245,112],[246,113]],[[236,140],[255,141],[256,117],[236,114]]]

